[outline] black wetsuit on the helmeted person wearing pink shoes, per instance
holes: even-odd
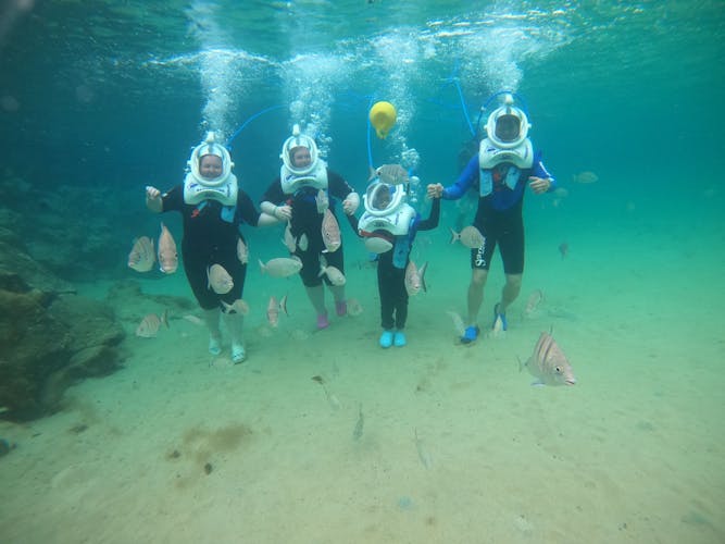
[[[329,210],[335,214],[335,198],[343,200],[354,189],[342,178],[342,176],[332,170],[327,169],[327,194],[329,197]],[[307,235],[308,247],[303,251],[299,247],[295,250],[297,257],[302,261],[302,270],[300,276],[305,287],[314,287],[322,285],[323,280],[327,285],[330,285],[329,279],[326,274],[321,277],[320,274],[320,259],[322,256],[328,265],[335,267],[345,274],[345,259],[342,252],[342,244],[333,252],[324,252],[325,243],[322,238],[322,220],[323,214],[317,211],[315,197],[318,189],[312,187],[302,187],[293,195],[286,195],[282,190],[280,178],[277,177],[262,196],[261,201],[268,201],[277,206],[289,205],[292,207],[292,220],[290,232],[292,236],[299,240],[302,234]],[[336,219],[338,219],[336,217]],[[339,223],[339,219],[338,219]],[[342,225],[340,225],[340,228]]]

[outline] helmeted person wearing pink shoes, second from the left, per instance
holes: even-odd
[[[333,293],[337,316],[347,314],[347,302],[345,285],[332,285],[325,274],[320,275],[323,257],[327,265],[345,274],[342,245],[335,251],[326,251],[325,248],[322,236],[324,210],[328,206],[335,214],[336,200],[340,199],[342,211],[353,214],[360,206],[360,197],[340,174],[327,168],[317,156],[314,139],[300,134],[298,125],[295,125],[292,136],[285,140],[280,159],[279,177],[262,196],[260,208],[280,221],[289,222],[290,233],[297,242],[293,255],[302,261],[302,284],[317,313],[317,329],[325,329],[329,321],[323,282]]]

